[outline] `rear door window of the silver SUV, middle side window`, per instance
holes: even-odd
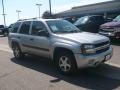
[[[29,34],[30,24],[31,24],[30,21],[23,22],[19,33],[21,33],[21,34]]]

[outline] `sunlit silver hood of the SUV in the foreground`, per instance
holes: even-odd
[[[108,41],[109,39],[105,36],[89,33],[89,32],[80,32],[80,33],[71,33],[71,34],[59,34],[57,35],[60,39],[66,41],[77,42],[77,43],[100,43]]]

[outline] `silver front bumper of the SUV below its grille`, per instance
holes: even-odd
[[[113,54],[113,49],[112,47],[110,47],[109,50],[96,55],[85,56],[82,54],[75,54],[75,59],[76,59],[78,68],[94,67],[110,60],[112,57],[112,54]],[[106,59],[106,56],[108,55],[109,57]]]

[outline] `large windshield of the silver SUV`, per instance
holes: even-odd
[[[51,20],[46,21],[53,33],[74,33],[80,30],[66,20]]]

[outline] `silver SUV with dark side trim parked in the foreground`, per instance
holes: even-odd
[[[29,19],[16,22],[8,36],[16,59],[34,54],[51,59],[63,74],[78,68],[98,66],[112,56],[107,37],[82,32],[59,19]]]

